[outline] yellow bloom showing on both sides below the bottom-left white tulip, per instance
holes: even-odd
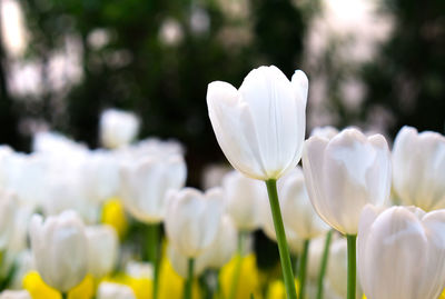
[[[30,271],[24,276],[23,288],[29,291],[32,299],[61,299],[60,292],[44,283],[37,271]],[[69,299],[89,299],[93,296],[95,282],[90,275],[68,293]]]

